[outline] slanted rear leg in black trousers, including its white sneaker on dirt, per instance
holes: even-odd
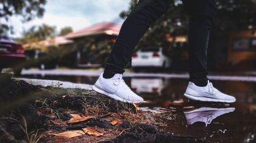
[[[93,85],[93,90],[115,100],[144,102],[122,79],[123,68],[131,60],[132,51],[150,25],[161,17],[172,0],[140,0],[124,21],[105,71]]]

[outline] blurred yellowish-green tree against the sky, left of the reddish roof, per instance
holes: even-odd
[[[17,39],[16,42],[20,44],[27,44],[46,40],[56,36],[56,27],[42,24],[40,26],[32,26],[28,31],[23,32],[22,38]]]

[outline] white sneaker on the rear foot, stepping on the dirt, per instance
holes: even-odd
[[[93,90],[97,93],[104,94],[115,100],[129,103],[145,102],[143,98],[135,94],[123,81],[122,74],[115,74],[114,77],[106,79],[103,73],[93,85]]]

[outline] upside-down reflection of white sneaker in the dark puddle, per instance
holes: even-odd
[[[210,108],[201,107],[193,110],[183,111],[188,125],[196,122],[204,122],[207,127],[215,118],[224,115],[225,113],[233,112],[235,108]]]

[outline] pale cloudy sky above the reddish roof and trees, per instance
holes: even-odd
[[[24,30],[42,23],[60,28],[71,26],[74,31],[101,21],[111,21],[121,24],[123,20],[119,13],[129,8],[130,0],[48,0],[45,14],[42,18],[35,18],[22,23],[18,16],[10,19],[14,26],[14,35],[20,37]]]

